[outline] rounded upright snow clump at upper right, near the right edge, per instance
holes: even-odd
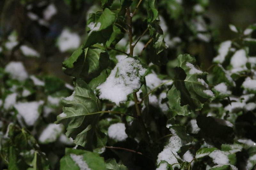
[[[244,49],[236,51],[236,53],[231,57],[230,64],[233,68],[242,67],[246,64],[246,52]]]

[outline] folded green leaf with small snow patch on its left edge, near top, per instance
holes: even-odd
[[[88,34],[83,48],[90,47],[96,43],[105,43],[113,32],[113,24],[116,20],[116,15],[108,8],[105,8],[100,18],[95,20],[92,24],[94,27]]]

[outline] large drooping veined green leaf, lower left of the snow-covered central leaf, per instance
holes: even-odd
[[[56,123],[64,124],[66,135],[72,137],[75,144],[93,148],[98,114],[88,114],[101,110],[100,100],[84,81],[77,80],[73,99],[63,100],[63,105],[66,116],[57,116]]]

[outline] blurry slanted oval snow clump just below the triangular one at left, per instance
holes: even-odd
[[[56,141],[62,132],[62,125],[50,123],[48,124],[42,133],[40,134],[38,141],[41,144],[47,144]]]

